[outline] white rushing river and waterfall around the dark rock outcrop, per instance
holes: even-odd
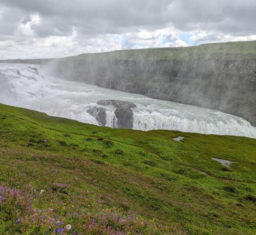
[[[42,76],[44,72],[36,65],[0,63],[0,72],[0,102],[48,115],[99,124],[95,114],[88,113],[89,107],[102,108],[96,103],[98,100],[115,99],[136,104],[137,107],[132,108],[136,130],[166,129],[256,138],[256,127],[248,121],[217,110]],[[105,125],[115,127],[114,106],[104,106],[104,109]]]

